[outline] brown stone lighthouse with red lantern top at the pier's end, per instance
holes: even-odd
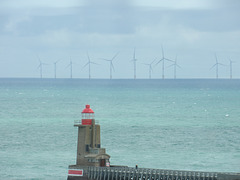
[[[96,123],[94,111],[86,105],[82,119],[74,122],[78,128],[76,166],[109,166],[110,156],[101,148],[100,125]]]

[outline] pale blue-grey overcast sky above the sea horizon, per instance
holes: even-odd
[[[240,78],[239,0],[0,0],[0,78]],[[158,63],[158,64],[157,64]],[[166,79],[174,62],[164,63]],[[86,66],[85,66],[86,65]],[[212,68],[212,66],[214,66]]]

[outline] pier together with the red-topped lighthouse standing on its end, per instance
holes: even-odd
[[[70,165],[68,180],[240,180],[240,173],[181,171],[110,165],[110,155],[101,148],[100,125],[89,105],[78,127],[76,165]]]

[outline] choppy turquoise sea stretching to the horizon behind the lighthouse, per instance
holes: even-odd
[[[67,179],[89,104],[111,165],[240,172],[239,79],[0,79],[0,179]]]

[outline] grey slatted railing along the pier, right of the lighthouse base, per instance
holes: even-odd
[[[89,167],[88,178],[94,180],[217,180],[217,173],[130,167]]]

